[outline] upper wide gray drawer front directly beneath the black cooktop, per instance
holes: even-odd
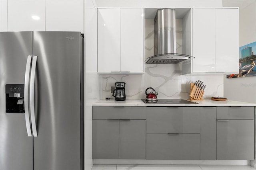
[[[147,133],[200,133],[200,107],[147,107]]]

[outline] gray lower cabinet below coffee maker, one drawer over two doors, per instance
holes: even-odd
[[[93,159],[146,159],[146,107],[94,106]]]

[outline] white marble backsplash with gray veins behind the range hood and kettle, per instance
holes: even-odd
[[[154,20],[145,20],[144,24],[146,59],[154,55]],[[176,49],[182,53],[182,20],[176,20]],[[102,98],[112,97],[110,91],[115,82],[126,82],[126,99],[145,98],[148,87],[158,92],[158,98],[189,99],[190,83],[198,79],[206,85],[204,98],[223,96],[223,75],[181,75],[180,64],[145,64],[143,75],[102,76]]]

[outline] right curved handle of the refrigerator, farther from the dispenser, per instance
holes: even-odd
[[[35,117],[35,76],[36,76],[36,61],[37,56],[34,55],[32,59],[31,74],[30,74],[30,116],[33,136],[37,137],[36,117]]]

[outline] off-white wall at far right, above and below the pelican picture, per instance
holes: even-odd
[[[239,11],[240,47],[256,41],[256,0],[248,2],[248,6]],[[233,4],[223,0],[223,5],[232,7]],[[256,77],[227,79],[224,76],[224,96],[230,100],[256,103]]]

